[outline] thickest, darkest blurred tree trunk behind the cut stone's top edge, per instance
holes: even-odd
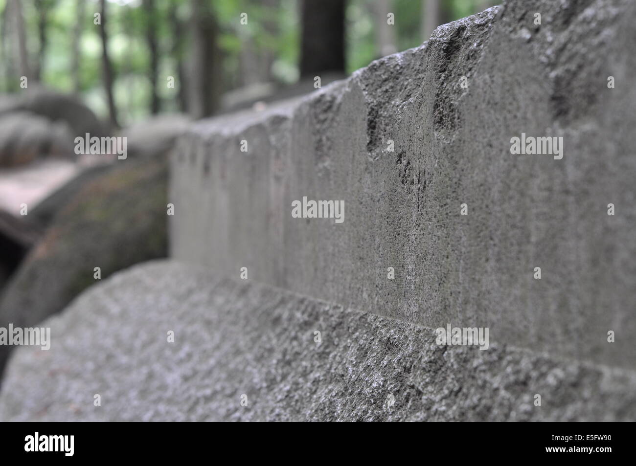
[[[345,0],[304,0],[300,76],[345,71]]]

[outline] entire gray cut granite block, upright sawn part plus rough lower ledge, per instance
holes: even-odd
[[[0,419],[636,420],[635,20],[632,0],[509,0],[191,125],[170,254],[202,268],[83,293],[49,352],[15,352]],[[563,137],[563,159],[511,154],[522,132]],[[302,196],[345,222],[292,218]],[[436,345],[448,322],[490,349]]]

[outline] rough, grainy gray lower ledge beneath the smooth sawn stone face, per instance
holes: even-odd
[[[117,273],[43,326],[51,349],[15,352],[1,421],[636,420],[632,371],[438,346],[432,329],[179,263]]]

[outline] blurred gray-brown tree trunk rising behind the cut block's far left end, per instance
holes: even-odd
[[[214,113],[219,106],[221,67],[216,45],[218,29],[211,4],[206,0],[192,0],[191,6],[192,48],[188,109],[194,118],[204,118]]]

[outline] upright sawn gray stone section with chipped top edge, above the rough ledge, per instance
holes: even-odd
[[[635,21],[631,0],[511,0],[300,102],[198,123],[172,158],[172,254],[634,369]],[[563,137],[562,160],[511,154],[522,133]],[[344,223],[294,219],[303,196],[344,200]]]

